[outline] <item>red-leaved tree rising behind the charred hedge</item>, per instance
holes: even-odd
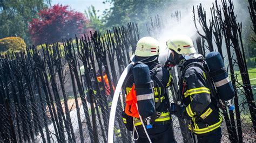
[[[35,45],[72,38],[75,34],[79,37],[92,30],[86,28],[89,20],[83,13],[70,10],[68,5],[53,5],[39,11],[38,16],[29,23],[29,33]]]

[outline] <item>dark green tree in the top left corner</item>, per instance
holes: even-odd
[[[47,0],[49,1],[49,0]],[[0,38],[21,37],[28,44],[28,22],[47,5],[45,0],[3,0],[0,2]]]

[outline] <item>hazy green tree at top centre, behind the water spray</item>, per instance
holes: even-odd
[[[174,2],[171,0],[106,0],[104,3],[113,4],[109,10],[105,11],[105,27],[120,26],[129,22],[136,22],[140,28],[144,28],[145,30],[146,23],[151,16],[163,14],[164,10],[167,10]]]

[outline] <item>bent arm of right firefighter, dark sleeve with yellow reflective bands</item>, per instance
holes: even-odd
[[[192,73],[186,76],[185,97],[190,97],[191,103],[186,107],[186,115],[192,118],[195,115],[201,115],[207,106],[211,103],[210,89],[207,87],[206,80],[202,75]]]

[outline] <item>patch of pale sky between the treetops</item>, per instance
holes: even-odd
[[[71,9],[82,13],[84,13],[89,6],[93,5],[98,11],[97,15],[100,16],[105,9],[109,9],[111,6],[109,3],[103,4],[103,2],[104,0],[52,0],[51,4],[69,5]]]

